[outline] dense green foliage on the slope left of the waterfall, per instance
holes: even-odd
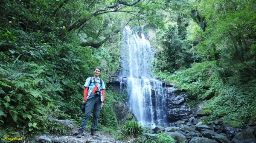
[[[91,24],[98,23],[92,24],[97,26],[95,31],[78,29],[81,27],[74,32],[67,29],[68,22],[71,25],[72,20],[91,12],[81,10],[87,4],[97,5],[90,1],[67,0],[4,0],[1,3],[1,136],[20,135],[24,139],[39,132],[67,133],[68,129],[49,122],[47,116],[70,119],[79,125],[85,79],[93,76],[93,68],[99,66],[103,67],[101,78],[107,83],[106,78],[119,69],[119,35],[112,36],[105,42],[106,46],[100,48],[84,47],[79,39],[103,28],[111,17],[92,18]],[[105,23],[104,28],[111,30],[111,27],[114,25]],[[104,34],[98,37],[104,38]],[[98,37],[94,41],[100,40]],[[113,95],[111,90],[106,91],[105,108],[99,122],[115,128],[117,121],[111,108],[115,101]]]

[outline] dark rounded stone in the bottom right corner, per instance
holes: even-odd
[[[239,132],[232,139],[232,143],[256,143],[256,139],[251,132]]]

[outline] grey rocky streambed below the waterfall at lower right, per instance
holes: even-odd
[[[170,127],[156,126],[147,137],[154,139],[154,134],[162,132],[174,138],[175,143],[256,143],[256,124],[239,129],[222,123],[219,119],[214,125],[205,125],[191,117],[189,121],[177,121]]]

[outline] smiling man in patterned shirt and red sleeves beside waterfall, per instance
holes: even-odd
[[[95,67],[93,70],[94,76],[86,79],[84,84],[84,101],[82,104],[85,104],[84,116],[82,118],[82,122],[80,128],[78,130],[77,137],[81,138],[84,132],[84,127],[86,126],[88,119],[90,117],[90,113],[93,110],[93,121],[91,126],[91,135],[98,136],[96,133],[97,125],[98,125],[98,116],[100,109],[104,105],[104,89],[105,84],[102,79],[99,78],[101,73],[100,67]]]

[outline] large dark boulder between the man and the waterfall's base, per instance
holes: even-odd
[[[122,102],[113,103],[113,112],[116,114],[116,119],[119,122],[130,121],[130,120],[137,121],[137,118],[135,117],[135,115]]]

